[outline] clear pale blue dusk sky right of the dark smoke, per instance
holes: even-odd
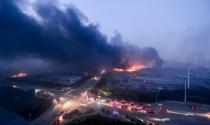
[[[156,47],[166,59],[210,61],[209,0],[73,0],[72,3],[109,37],[117,30],[130,43]]]

